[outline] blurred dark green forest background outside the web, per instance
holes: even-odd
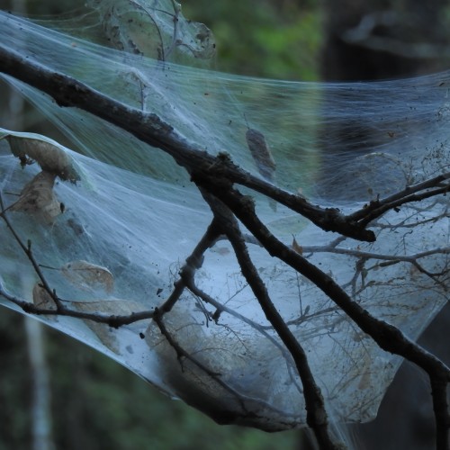
[[[31,16],[80,5],[0,0],[1,9]],[[450,64],[447,0],[186,0],[182,7],[186,18],[214,32],[214,68],[226,72],[349,81],[416,76]],[[4,85],[0,126],[42,133],[48,127]],[[449,324],[447,308],[422,338],[447,363]],[[428,392],[423,375],[403,365],[379,418],[350,428],[355,447],[433,448]],[[268,435],[215,425],[90,348],[0,310],[0,450],[275,447],[312,448],[299,431]]]

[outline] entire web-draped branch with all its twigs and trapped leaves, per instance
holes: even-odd
[[[415,342],[448,301],[450,76],[226,76],[166,60],[211,51],[175,2],[124,0],[117,22],[93,4],[129,53],[0,14],[4,79],[77,150],[0,130],[0,302],[220,423],[310,426],[324,449],[333,424],[374,418],[406,358],[446,448],[450,372]]]

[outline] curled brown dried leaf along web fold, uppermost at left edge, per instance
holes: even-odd
[[[72,158],[68,156],[62,147],[46,140],[35,138],[23,138],[10,134],[6,136],[11,151],[15,157],[19,157],[22,164],[28,164],[30,159],[36,161],[41,169],[62,180],[76,182],[80,179],[74,168]]]

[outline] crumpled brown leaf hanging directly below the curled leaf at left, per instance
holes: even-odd
[[[51,223],[62,212],[61,203],[53,193],[55,176],[49,172],[40,172],[30,183],[25,184],[19,200],[10,211],[22,211],[40,216],[46,223]]]

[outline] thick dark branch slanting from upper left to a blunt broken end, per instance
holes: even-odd
[[[174,157],[177,164],[189,173],[201,170],[211,176],[216,184],[238,183],[264,193],[293,211],[299,212],[321,229],[336,231],[344,236],[373,242],[371,230],[348,220],[335,208],[320,208],[305,199],[261,180],[238,166],[228,155],[214,157],[184,139],[157,114],[142,112],[111,97],[101,94],[76,79],[50,70],[31,57],[23,57],[12,49],[0,45],[0,71],[49,94],[60,106],[75,106],[113,125],[130,132],[148,145],[160,148]],[[113,76],[113,74],[112,74]]]

